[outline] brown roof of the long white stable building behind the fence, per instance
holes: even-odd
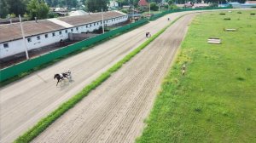
[[[108,12],[105,12],[103,15],[104,15],[104,19],[107,20],[107,19],[123,16],[125,14],[118,11],[108,11]],[[79,16],[67,16],[67,17],[57,18],[56,20],[58,21],[61,20],[63,21],[63,23],[66,22],[67,25],[81,26],[81,25],[102,20],[102,13],[91,13],[91,14],[84,14]],[[67,26],[53,22],[56,20],[49,19],[49,20],[38,20],[38,22],[34,20],[22,22],[25,37],[31,37],[38,34],[44,34],[50,31],[59,31],[62,29],[66,29]],[[20,22],[13,23],[13,24],[0,25],[0,31],[1,31],[0,43],[22,38]]]

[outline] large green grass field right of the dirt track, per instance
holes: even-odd
[[[256,10],[220,13],[191,23],[137,142],[256,142]]]

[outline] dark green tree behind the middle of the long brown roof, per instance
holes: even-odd
[[[90,12],[100,12],[102,9],[108,10],[108,0],[86,0],[86,9]]]

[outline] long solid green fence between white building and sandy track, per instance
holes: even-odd
[[[92,45],[92,44],[100,42],[108,37],[113,37],[114,35],[117,35],[123,31],[130,30],[136,26],[142,26],[143,24],[145,24],[147,22],[148,22],[148,20],[138,20],[135,23],[131,23],[129,25],[119,27],[117,29],[114,29],[113,31],[108,31],[108,32],[98,35],[96,37],[91,37],[91,38],[81,41],[79,43],[74,43],[74,44],[68,45],[67,47],[64,47],[62,49],[58,49],[58,50],[49,52],[49,54],[43,54],[43,55],[38,56],[37,58],[31,59],[31,60],[26,60],[24,62],[21,62],[20,64],[15,65],[15,66],[10,66],[8,68],[5,68],[0,71],[0,82],[3,82],[4,80],[9,79],[10,77],[15,77],[15,76],[19,75],[21,72],[27,72],[29,70],[32,70],[34,67],[41,66],[45,63],[48,63],[49,61],[58,59],[64,55],[70,54],[79,49],[89,48],[90,45]]]

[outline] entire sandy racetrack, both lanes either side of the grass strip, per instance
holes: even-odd
[[[234,9],[232,9],[234,10]],[[180,15],[168,14],[0,89],[0,142],[9,143]],[[192,18],[189,14],[84,98],[35,142],[133,142]],[[132,64],[131,64],[132,63]],[[71,69],[58,87],[53,75]],[[82,105],[82,106],[81,106]]]

